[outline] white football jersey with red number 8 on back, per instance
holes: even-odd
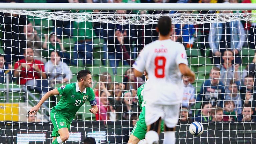
[[[172,40],[156,40],[146,45],[133,67],[148,73],[144,87],[147,103],[179,104],[183,96],[183,83],[179,64],[188,64],[185,48]]]

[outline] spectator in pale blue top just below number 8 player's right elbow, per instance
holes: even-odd
[[[188,78],[189,77],[182,76],[184,84],[184,93],[181,105],[182,107],[187,107],[188,109],[190,109],[191,105],[195,102],[196,89],[192,84],[189,83]],[[192,113],[192,111],[190,112]]]

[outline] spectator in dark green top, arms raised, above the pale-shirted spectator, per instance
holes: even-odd
[[[70,62],[70,54],[65,53],[65,49],[62,45],[61,40],[57,37],[55,32],[51,32],[49,35],[45,35],[45,40],[43,44],[43,49],[50,50],[49,53],[52,51],[58,51],[61,58],[63,58],[63,62],[69,64]]]

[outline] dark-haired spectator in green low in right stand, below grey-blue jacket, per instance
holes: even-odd
[[[225,101],[223,108],[223,121],[236,121],[235,103],[233,101]]]

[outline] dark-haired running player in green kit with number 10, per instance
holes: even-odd
[[[89,70],[81,70],[77,73],[77,83],[71,83],[60,88],[48,91],[40,102],[31,108],[29,113],[36,114],[41,105],[50,96],[62,95],[59,103],[52,108],[50,118],[54,126],[52,131],[52,144],[62,144],[69,138],[69,128],[76,112],[86,102],[89,101],[91,109],[95,114],[98,111],[92,86],[92,76]]]

